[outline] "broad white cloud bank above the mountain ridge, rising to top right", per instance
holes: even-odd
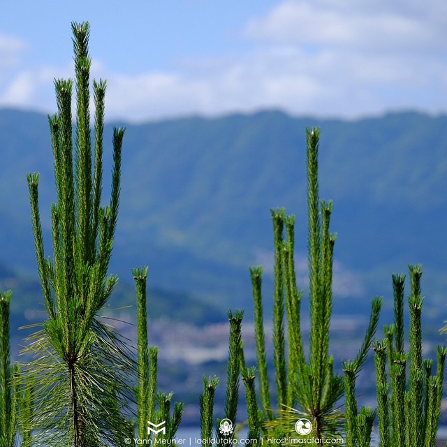
[[[446,5],[285,0],[247,22],[240,34],[244,54],[136,74],[110,72],[95,61],[93,72],[108,80],[106,117],[133,122],[258,108],[343,117],[403,108],[445,112]],[[22,44],[14,45],[11,54]],[[0,40],[0,54],[1,48]],[[52,80],[59,75],[72,76],[72,68],[17,73],[2,82],[0,104],[52,111]]]

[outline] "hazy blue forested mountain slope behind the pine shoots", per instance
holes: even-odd
[[[306,126],[321,126],[321,198],[334,201],[335,295],[365,303],[372,294],[389,296],[391,273],[423,263],[425,293],[447,302],[447,117],[416,112],[353,122],[265,111],[126,124],[112,271],[131,281],[131,268],[149,265],[153,286],[222,309],[248,307],[249,265],[264,263],[268,271],[271,262],[269,210],[286,207],[297,217],[305,288]],[[0,110],[0,150],[1,261],[32,271],[30,171],[41,173],[50,250],[54,181],[46,118]],[[349,300],[340,306],[350,307]]]

